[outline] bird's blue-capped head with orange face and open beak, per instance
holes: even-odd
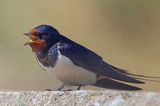
[[[33,51],[40,51],[44,48],[50,48],[60,40],[58,30],[50,25],[39,25],[33,28],[29,33],[25,33],[31,39],[27,44],[32,47]]]

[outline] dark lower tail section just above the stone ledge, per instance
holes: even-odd
[[[102,87],[102,88],[108,88],[108,89],[115,89],[115,90],[128,90],[128,91],[132,91],[132,90],[142,90],[141,88],[135,87],[135,86],[131,86],[131,85],[127,85],[109,78],[103,78],[98,80],[94,86],[97,87]]]

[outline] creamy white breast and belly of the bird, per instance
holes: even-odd
[[[58,60],[54,68],[47,68],[42,64],[40,65],[49,75],[62,81],[66,85],[90,85],[96,82],[97,75],[95,73],[74,65],[69,58],[60,53],[58,54]]]

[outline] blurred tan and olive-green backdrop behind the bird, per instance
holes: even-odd
[[[0,0],[0,90],[54,89],[22,34],[50,24],[132,73],[160,76],[158,0]],[[144,90],[160,90],[147,82]]]

